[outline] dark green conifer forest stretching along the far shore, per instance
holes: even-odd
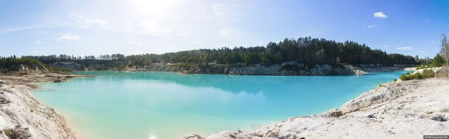
[[[306,65],[315,64],[381,64],[381,65],[417,65],[420,62],[429,63],[429,58],[419,59],[410,55],[387,53],[380,49],[371,49],[366,44],[354,41],[336,42],[327,39],[312,39],[300,37],[299,39],[284,39],[283,41],[269,42],[267,46],[253,47],[222,47],[214,49],[199,49],[179,51],[163,54],[140,55],[26,55],[26,60],[39,60],[48,65],[53,62],[74,61],[82,65],[86,62],[99,64],[144,66],[157,62],[187,63],[187,64],[227,64],[244,63],[246,65],[261,64],[275,65],[283,62],[300,62]],[[15,59],[15,60],[14,60]],[[15,56],[1,57],[0,67],[8,67],[18,62]]]

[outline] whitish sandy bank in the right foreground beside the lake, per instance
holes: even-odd
[[[449,79],[382,84],[339,110],[291,117],[254,131],[221,131],[206,138],[423,138],[449,135]],[[182,139],[201,138],[186,135]]]

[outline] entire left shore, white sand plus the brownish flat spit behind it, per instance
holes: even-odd
[[[37,101],[29,89],[57,77],[83,77],[53,72],[0,73],[0,138],[76,138],[67,121]]]

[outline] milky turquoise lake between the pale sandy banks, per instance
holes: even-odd
[[[33,95],[63,114],[81,138],[205,137],[321,114],[402,73],[283,77],[76,72],[99,77],[39,84]]]

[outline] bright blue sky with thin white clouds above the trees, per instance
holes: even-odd
[[[431,58],[449,34],[443,0],[0,0],[0,56],[167,53],[356,41]]]

